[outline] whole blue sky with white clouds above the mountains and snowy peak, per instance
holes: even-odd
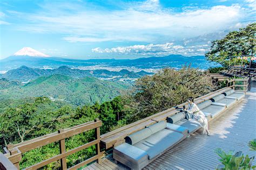
[[[1,0],[0,59],[23,47],[78,59],[204,55],[255,11],[255,0]]]

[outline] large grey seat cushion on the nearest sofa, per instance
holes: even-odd
[[[163,129],[158,131],[157,133],[152,134],[150,137],[139,141],[133,146],[136,146],[141,150],[146,151],[149,155],[149,159],[152,159],[164,152],[167,148],[173,146],[181,138],[183,138],[183,134]]]

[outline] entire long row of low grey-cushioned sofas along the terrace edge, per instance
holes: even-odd
[[[211,121],[227,107],[231,107],[244,97],[244,93],[228,90],[197,105]],[[187,121],[185,116],[184,112],[177,112],[167,117],[167,122],[160,121],[130,134],[125,138],[125,143],[113,148],[113,159],[131,169],[142,169],[159,155],[200,129],[198,123]]]

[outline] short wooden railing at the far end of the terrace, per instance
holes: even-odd
[[[251,77],[245,79],[230,79],[227,80],[227,87],[236,91],[246,92],[251,90]]]

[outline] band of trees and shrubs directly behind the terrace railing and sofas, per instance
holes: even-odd
[[[27,86],[33,87],[34,83],[36,82]],[[166,68],[153,76],[145,76],[136,82],[130,94],[115,97],[101,104],[96,102],[93,105],[74,108],[59,101],[49,100],[48,97],[36,97],[28,102],[12,104],[3,110],[0,114],[0,145],[4,147],[9,143],[16,144],[59,129],[93,121],[95,118],[103,122],[100,133],[104,134],[183,103],[187,97],[207,94],[215,88],[210,77],[204,72],[184,67],[180,70]],[[79,100],[79,96],[77,97]],[[93,131],[70,137],[65,140],[66,150],[91,140],[93,140]],[[48,144],[24,153],[20,166],[28,167],[57,154],[59,154],[58,144]],[[68,166],[78,164],[94,154],[94,147],[72,154],[67,158]],[[44,168],[58,167],[59,162],[53,162]]]

